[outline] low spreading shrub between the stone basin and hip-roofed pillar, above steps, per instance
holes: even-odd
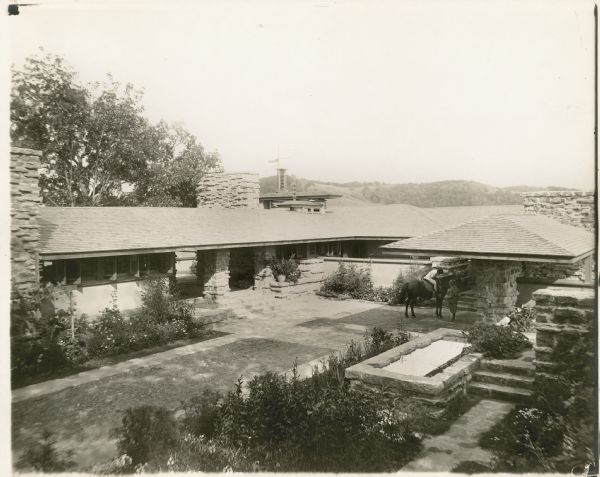
[[[475,323],[463,335],[473,345],[473,350],[487,358],[509,359],[533,345],[527,337],[508,326],[497,326],[489,323]]]

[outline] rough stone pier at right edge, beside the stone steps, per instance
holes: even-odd
[[[589,359],[594,329],[594,302],[592,289],[546,288],[533,294],[536,311],[536,346],[534,365],[536,379],[555,376],[560,348],[574,349],[579,343],[589,345]],[[563,348],[565,349],[565,348]]]

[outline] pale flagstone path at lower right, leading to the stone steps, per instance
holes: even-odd
[[[492,453],[479,447],[479,438],[513,407],[512,403],[483,399],[460,416],[445,434],[425,439],[421,454],[401,470],[449,472],[464,461],[490,464]]]

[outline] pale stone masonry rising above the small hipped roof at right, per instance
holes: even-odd
[[[547,215],[567,225],[594,230],[593,192],[544,191],[522,194],[525,213]]]

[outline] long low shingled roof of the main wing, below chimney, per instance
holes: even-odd
[[[447,208],[455,223],[474,213],[482,216],[505,210],[494,206],[477,211]],[[43,207],[40,255],[66,258],[361,238],[393,241],[446,225],[436,213],[402,204],[340,207],[327,214],[264,209]]]

